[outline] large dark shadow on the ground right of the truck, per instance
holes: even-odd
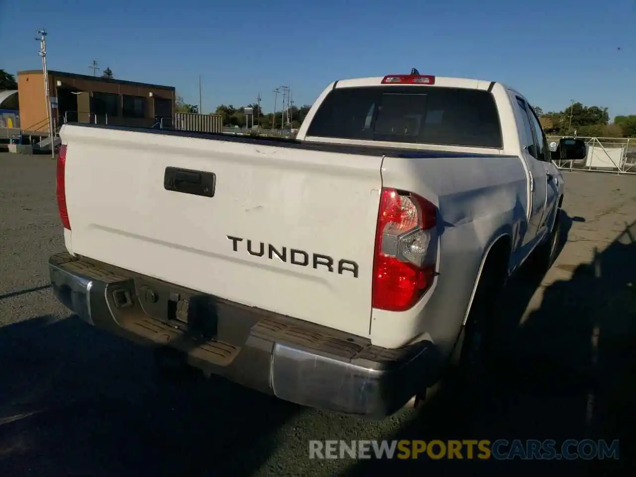
[[[571,220],[566,216],[565,232]],[[626,224],[625,232],[597,252],[592,263],[573,272],[570,280],[546,287],[538,309],[523,318],[541,279],[512,280],[497,318],[501,357],[478,389],[460,396],[441,391],[394,435],[373,438],[619,439],[619,460],[502,462],[420,456],[362,460],[344,475],[633,475],[636,223]]]

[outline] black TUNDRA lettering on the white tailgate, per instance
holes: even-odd
[[[243,239],[240,237],[232,237],[232,235],[227,235],[228,240],[232,240],[232,250],[235,252],[239,251],[239,242],[242,242]],[[268,258],[273,259],[274,256],[280,261],[286,263],[287,262],[287,247],[279,247],[277,249],[272,244],[267,244]],[[265,255],[265,243],[252,242],[252,240],[247,240],[247,253],[255,257],[262,257]],[[310,260],[311,257],[311,260]],[[319,266],[326,268],[329,272],[333,272],[333,263],[334,260],[328,255],[323,255],[319,253],[310,254],[305,252],[304,250],[298,249],[289,249],[289,263],[293,265],[300,266],[308,266],[309,263],[312,263],[312,267],[317,269]],[[358,277],[359,274],[359,266],[356,262],[347,259],[338,260],[338,274],[342,275],[343,272],[351,272],[355,278]]]

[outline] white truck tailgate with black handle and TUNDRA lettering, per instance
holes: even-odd
[[[69,125],[61,136],[70,252],[369,335],[381,155]],[[167,168],[204,195],[167,190]],[[201,172],[214,183],[197,184]]]

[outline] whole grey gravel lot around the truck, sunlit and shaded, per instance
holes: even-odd
[[[0,153],[0,475],[492,475],[503,462],[309,460],[309,439],[621,439],[616,462],[510,462],[516,474],[627,474],[636,454],[636,177],[565,176],[567,237],[541,283],[513,280],[501,369],[382,422],[307,410],[223,380],[156,377],[149,350],[69,314],[55,163]],[[622,234],[622,235],[621,235]],[[516,465],[515,465],[516,464]],[[602,465],[602,469],[600,468]],[[496,472],[495,472],[496,473]],[[630,473],[632,474],[632,473]]]

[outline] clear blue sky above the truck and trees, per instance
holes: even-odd
[[[0,0],[0,68],[40,67],[176,86],[204,112],[311,104],[334,79],[408,73],[503,81],[544,111],[570,100],[636,114],[634,0]],[[106,9],[106,10],[104,10]],[[620,50],[618,49],[620,48]]]

